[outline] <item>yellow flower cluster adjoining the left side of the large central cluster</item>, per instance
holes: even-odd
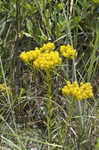
[[[33,60],[35,60],[40,55],[40,50],[38,48],[35,48],[35,50],[30,50],[28,52],[22,52],[20,54],[20,58],[25,62],[29,63]]]

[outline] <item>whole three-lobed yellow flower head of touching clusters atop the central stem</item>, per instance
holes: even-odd
[[[27,64],[34,61],[33,63],[38,69],[51,69],[62,62],[59,53],[57,51],[53,51],[54,49],[54,43],[48,42],[40,49],[35,48],[35,50],[22,52],[20,54],[20,58]]]

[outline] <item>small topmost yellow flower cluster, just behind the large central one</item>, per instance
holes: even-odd
[[[55,45],[54,43],[52,42],[48,42],[47,44],[44,44],[41,48],[40,48],[40,51],[46,51],[46,52],[49,52],[49,51],[52,51],[55,49]]]

